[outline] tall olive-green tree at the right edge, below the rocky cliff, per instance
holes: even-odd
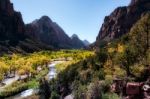
[[[133,26],[129,33],[130,42],[135,48],[138,48],[138,54],[147,58],[150,38],[150,12],[142,16],[142,18]]]

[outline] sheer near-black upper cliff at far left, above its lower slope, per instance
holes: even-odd
[[[0,40],[23,39],[24,23],[21,13],[15,12],[9,0],[0,1]]]

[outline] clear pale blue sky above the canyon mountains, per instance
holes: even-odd
[[[71,36],[77,34],[90,42],[96,36],[104,17],[116,7],[126,6],[130,0],[11,0],[25,23],[49,16]]]

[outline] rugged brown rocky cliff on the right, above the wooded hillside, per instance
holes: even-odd
[[[96,44],[108,42],[128,33],[133,24],[147,11],[150,11],[150,0],[132,0],[129,6],[118,7],[105,17]]]

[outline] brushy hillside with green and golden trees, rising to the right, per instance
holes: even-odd
[[[143,85],[149,84],[150,77],[150,68],[146,65],[150,64],[150,57],[147,59],[148,63],[145,61],[145,56],[150,55],[150,50],[145,50],[149,30],[150,13],[147,13],[133,25],[129,33],[111,41],[94,55],[75,64],[66,65],[58,74],[58,78],[61,79],[56,79],[58,83],[55,84],[62,85],[61,88],[66,90],[60,93],[59,88],[56,92],[58,96],[72,93],[74,99],[121,99],[120,93],[116,93],[119,90],[127,99],[134,87],[137,94],[132,93],[132,99],[148,99],[149,92],[142,88]],[[118,84],[118,81],[121,84]],[[137,83],[143,84],[139,87]],[[120,87],[122,88],[119,89]]]

